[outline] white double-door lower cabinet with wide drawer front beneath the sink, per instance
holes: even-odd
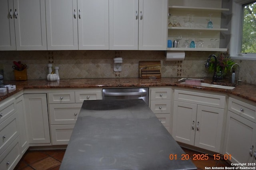
[[[225,96],[174,90],[172,137],[188,145],[220,152],[224,118],[222,102],[225,103]],[[208,106],[200,105],[202,103]],[[220,108],[216,107],[218,105]]]

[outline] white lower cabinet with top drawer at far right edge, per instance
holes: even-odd
[[[231,162],[256,162],[256,106],[229,98],[223,154]]]

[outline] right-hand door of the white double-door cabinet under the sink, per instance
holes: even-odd
[[[224,109],[198,105],[195,146],[220,152]]]

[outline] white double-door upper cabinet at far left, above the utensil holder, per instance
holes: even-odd
[[[1,1],[0,16],[0,50],[47,49],[44,0]]]

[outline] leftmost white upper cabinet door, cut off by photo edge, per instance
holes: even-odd
[[[13,1],[0,1],[0,50],[16,50]]]

